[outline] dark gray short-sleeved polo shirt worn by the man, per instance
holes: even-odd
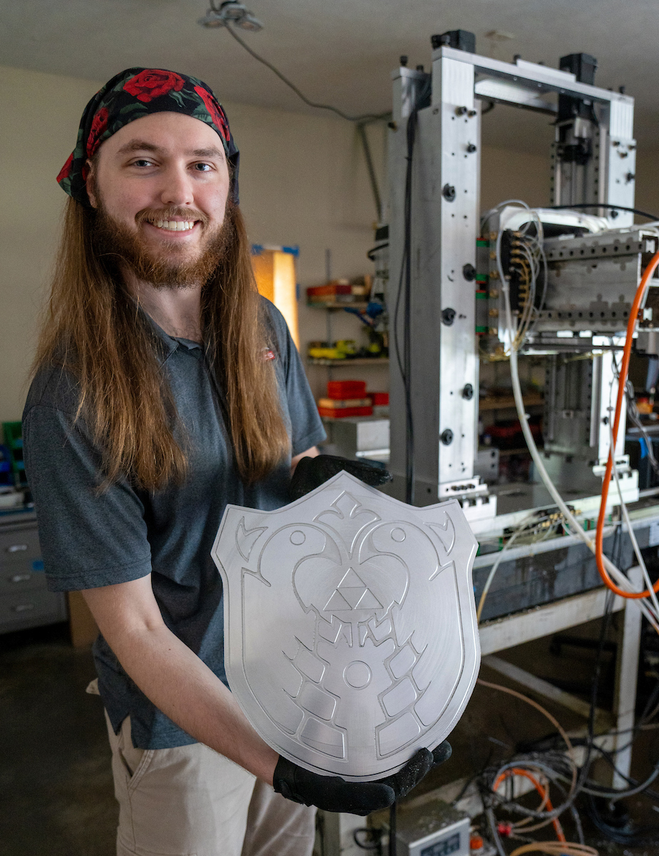
[[[265,302],[274,341],[264,347],[275,353],[292,455],[299,455],[322,442],[325,433],[286,322]],[[45,574],[50,591],[110,586],[151,574],[165,624],[226,684],[222,582],[211,547],[228,503],[272,509],[288,502],[290,458],[257,484],[243,484],[224,419],[223,391],[203,349],[151,324],[187,431],[185,484],[154,494],[122,479],[98,494],[101,452],[84,421],[74,422],[74,378],[59,367],[39,372],[27,395],[23,438]],[[115,731],[130,714],[135,746],[162,749],[194,742],[151,704],[102,636],[94,659]]]

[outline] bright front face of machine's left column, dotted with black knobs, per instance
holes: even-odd
[[[425,259],[424,274],[429,287],[439,280],[441,288],[438,481],[442,498],[456,479],[472,478],[478,442],[476,283],[472,269],[476,265],[480,216],[480,104],[477,107],[474,103],[472,64],[448,59],[439,51],[433,59],[432,77],[430,123],[436,122],[439,127],[429,135],[435,148],[430,162],[439,159],[434,203],[440,235],[439,252]],[[453,439],[448,442],[451,435]]]

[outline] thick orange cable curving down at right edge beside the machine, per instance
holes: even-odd
[[[602,502],[600,504],[599,515],[597,517],[597,532],[595,538],[595,560],[597,562],[597,570],[599,571],[599,574],[602,577],[604,585],[608,586],[611,591],[614,591],[615,594],[619,595],[620,597],[629,597],[632,599],[639,597],[650,597],[650,590],[645,589],[644,591],[625,591],[624,589],[621,589],[620,586],[616,586],[614,581],[611,580],[611,578],[609,577],[609,572],[604,567],[604,518],[606,516],[607,499],[609,498],[609,484],[611,482],[611,473],[613,472],[614,467],[614,451],[615,443],[618,439],[618,428],[620,427],[620,413],[622,413],[622,402],[625,398],[627,373],[629,372],[629,360],[632,355],[634,328],[636,327],[636,322],[638,320],[638,312],[641,306],[641,301],[644,298],[645,291],[648,287],[648,282],[650,282],[650,277],[655,272],[657,265],[659,265],[659,252],[654,254],[652,259],[650,260],[650,264],[645,268],[643,272],[641,282],[639,282],[638,288],[636,289],[636,294],[634,295],[634,300],[632,302],[632,310],[629,313],[625,348],[622,352],[620,375],[618,376],[618,398],[615,402],[613,443],[611,445],[611,448],[609,449],[609,460],[607,461],[606,472],[604,473],[604,481],[602,485]],[[659,591],[659,580],[656,581],[655,585],[653,586],[653,589],[654,591]]]

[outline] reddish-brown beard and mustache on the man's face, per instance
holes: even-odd
[[[96,253],[110,261],[118,272],[128,269],[139,280],[148,282],[154,288],[175,290],[204,285],[235,234],[230,202],[223,223],[211,230],[208,230],[208,217],[201,211],[170,207],[159,210],[145,208],[140,211],[135,217],[138,226],[136,232],[116,221],[105,209],[103,202],[99,202],[93,229]],[[181,247],[175,241],[165,242],[156,248],[147,243],[140,233],[142,223],[175,217],[200,221],[201,229],[205,230],[193,258],[189,258],[187,247]]]

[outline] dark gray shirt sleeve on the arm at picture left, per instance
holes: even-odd
[[[34,405],[24,458],[50,591],[111,586],[151,573],[144,506],[126,480],[99,491],[101,453],[81,420]]]

